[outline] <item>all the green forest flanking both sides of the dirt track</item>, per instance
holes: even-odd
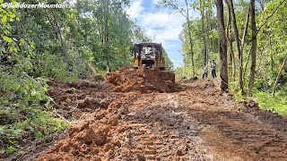
[[[133,44],[154,39],[126,14],[130,0],[25,0],[72,7],[3,7],[22,2],[0,0],[0,158],[55,140],[71,126],[49,95],[50,81],[105,80],[132,66]],[[286,0],[159,0],[156,7],[186,20],[178,35],[183,65],[175,68],[163,48],[166,70],[177,81],[200,79],[203,65],[215,60],[220,90],[287,114]]]

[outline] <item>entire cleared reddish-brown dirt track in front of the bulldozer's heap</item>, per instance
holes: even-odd
[[[239,109],[212,80],[150,94],[107,83],[51,86],[60,112],[79,120],[36,160],[287,160],[286,119]]]

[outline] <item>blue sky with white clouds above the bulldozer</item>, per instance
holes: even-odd
[[[153,42],[162,44],[174,68],[177,68],[183,65],[179,33],[185,18],[178,12],[156,8],[155,4],[159,1],[132,0],[130,7],[126,8],[126,13],[153,38]]]

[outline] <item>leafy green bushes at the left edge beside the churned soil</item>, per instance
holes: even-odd
[[[13,38],[10,23],[19,21],[13,10],[0,8],[0,15],[6,17],[1,21],[4,28],[1,28],[0,151],[1,155],[9,156],[24,140],[34,140],[36,136],[36,140],[48,139],[50,134],[65,129],[67,124],[55,120],[49,112],[43,112],[43,109],[50,109],[52,99],[47,96],[47,80],[29,74],[34,68],[35,43]]]

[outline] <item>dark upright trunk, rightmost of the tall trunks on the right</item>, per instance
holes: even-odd
[[[248,95],[252,95],[254,85],[255,69],[257,66],[257,26],[255,21],[255,0],[250,0],[252,44],[251,44],[251,66],[249,74]]]

